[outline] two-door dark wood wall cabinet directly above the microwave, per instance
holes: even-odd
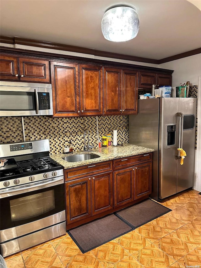
[[[50,83],[49,60],[1,56],[2,80]]]

